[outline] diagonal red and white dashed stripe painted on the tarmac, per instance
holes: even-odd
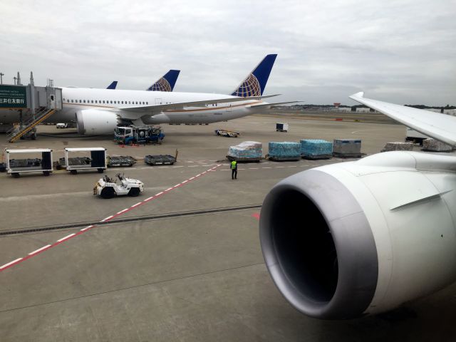
[[[189,178],[188,180],[184,180],[183,182],[180,182],[179,184],[176,184],[175,186],[173,187],[170,187],[168,188],[167,190],[165,191],[162,191],[162,192],[158,192],[156,195],[154,196],[151,196],[151,197],[147,197],[146,199],[144,199],[143,201],[141,202],[138,202],[136,204],[133,204],[131,207],[128,207],[128,208],[125,208],[123,210],[120,210],[120,212],[117,212],[113,215],[110,215],[108,217],[105,217],[104,219],[101,219],[100,222],[108,222],[110,221],[111,219],[115,219],[116,217],[119,217],[120,215],[122,214],[125,214],[125,212],[129,212],[130,210],[133,210],[135,208],[138,208],[140,207],[141,205],[143,204],[146,204],[147,202],[150,202],[152,199],[156,199],[164,194],[166,194],[167,192],[170,192],[171,190],[175,190],[177,189],[178,187],[182,187],[183,185],[187,184],[188,182],[192,181],[192,180],[195,180],[197,179],[197,177],[200,177],[202,175],[205,175],[207,174],[207,172],[209,171],[214,171],[215,169],[217,169],[217,167],[219,166],[222,166],[220,164],[214,166],[214,167],[211,167],[209,170],[206,170],[202,173],[200,173],[199,175],[196,175],[195,177],[191,177]],[[38,248],[36,250],[34,250],[33,252],[31,253],[28,253],[26,257],[23,257],[23,258],[18,258],[16,260],[13,260],[13,261],[10,261],[8,264],[4,264],[3,266],[0,266],[0,272],[1,271],[4,271],[5,269],[9,269],[10,267],[14,266],[14,265],[17,265],[17,264],[20,264],[22,261],[26,261],[27,259],[30,259],[32,257],[35,257],[36,255],[38,254],[41,254],[43,253],[44,251],[47,251],[48,249],[51,249],[53,247],[56,247],[58,246],[59,244],[62,244],[63,242],[67,242],[68,240],[70,239],[73,239],[75,237],[78,237],[79,235],[81,234],[84,234],[86,232],[88,232],[90,229],[93,229],[94,227],[98,227],[97,224],[91,224],[90,226],[87,226],[87,227],[84,227],[82,228],[79,232],[76,232],[76,233],[72,233],[72,234],[69,234],[67,235],[66,237],[62,237],[61,239],[58,239],[56,242],[54,242],[53,244],[47,244],[46,246],[43,246],[41,248]]]

